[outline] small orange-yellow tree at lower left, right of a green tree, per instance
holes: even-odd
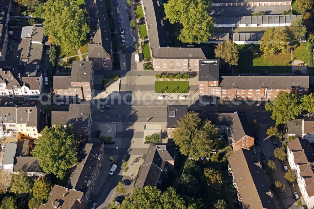
[[[34,182],[32,188],[32,194],[35,198],[43,201],[47,201],[50,197],[50,191],[52,190],[52,185],[50,181],[44,179],[37,179]]]

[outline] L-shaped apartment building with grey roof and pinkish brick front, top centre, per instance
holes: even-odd
[[[154,70],[191,71],[198,70],[198,61],[206,59],[202,48],[169,47],[170,39],[164,20],[163,4],[159,1],[143,0],[143,11],[148,29],[150,53]]]

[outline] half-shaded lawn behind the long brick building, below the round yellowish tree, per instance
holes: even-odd
[[[235,73],[291,73],[291,54],[265,55],[259,45],[239,45],[239,63]]]

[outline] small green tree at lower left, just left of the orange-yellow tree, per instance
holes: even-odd
[[[29,194],[32,188],[32,178],[28,177],[22,169],[18,172],[18,174],[12,176],[11,191],[15,194]]]

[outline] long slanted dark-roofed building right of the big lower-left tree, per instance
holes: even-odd
[[[104,147],[105,144],[101,142],[87,143],[81,146],[81,152],[78,154],[80,160],[68,188],[82,191],[85,194],[90,184],[89,181],[97,172],[96,167],[100,163],[99,158],[102,157]]]

